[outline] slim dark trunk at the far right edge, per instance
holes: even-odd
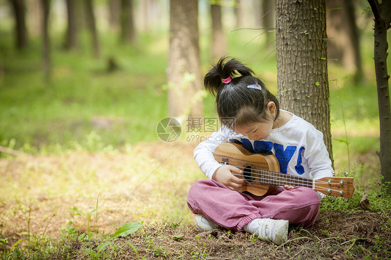
[[[376,86],[378,94],[378,116],[380,120],[380,159],[383,184],[388,184],[386,192],[391,194],[391,111],[390,111],[390,88],[388,86],[387,69],[387,30],[391,22],[391,2],[368,0],[375,17],[374,26],[374,60],[376,72]]]

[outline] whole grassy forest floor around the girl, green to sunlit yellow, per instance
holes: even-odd
[[[16,51],[8,29],[0,30],[0,67],[5,71],[0,76],[0,145],[33,155],[0,154],[1,259],[206,259],[219,248],[245,259],[244,252],[232,246],[234,241],[244,248],[256,243],[278,257],[305,259],[307,249],[325,258],[333,252],[347,258],[390,255],[385,238],[391,230],[391,206],[379,190],[375,153],[378,111],[373,60],[368,58],[370,32],[362,39],[365,81],[355,84],[343,67],[329,65],[335,168],[337,174],[350,169],[356,195],[353,200],[326,198],[321,208],[326,215],[319,224],[324,226],[292,229],[292,241],[276,251],[246,234],[196,234],[185,202],[189,186],[202,178],[191,156],[196,142],[184,138],[163,143],[155,130],[167,116],[165,34],[141,35],[138,45],[122,46],[114,35],[104,33],[100,59],[92,57],[86,35],[81,48],[70,52],[61,49],[61,37],[54,35],[53,69],[46,83],[40,70],[40,40],[33,38],[28,49]],[[229,33],[230,55],[254,67],[276,93],[276,54],[264,60],[271,49],[258,52],[262,38],[252,40],[255,35],[246,30]],[[205,72],[206,35],[200,45]],[[119,70],[106,72],[109,58]],[[216,116],[210,96],[205,99],[205,116]],[[363,213],[362,222],[378,218],[382,229],[361,241],[358,235],[331,230],[328,224],[336,216],[327,214],[354,215],[365,192],[378,215]],[[127,238],[110,240],[127,222],[144,227]],[[371,225],[368,222],[366,228]],[[319,229],[324,230],[321,240]],[[211,241],[214,246],[207,246]]]

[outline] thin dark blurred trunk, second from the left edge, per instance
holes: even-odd
[[[42,70],[45,81],[50,79],[50,42],[49,42],[49,11],[51,0],[41,0],[42,5]]]

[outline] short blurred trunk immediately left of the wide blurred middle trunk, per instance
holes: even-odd
[[[121,1],[121,42],[135,42],[136,33],[133,20],[133,1]]]

